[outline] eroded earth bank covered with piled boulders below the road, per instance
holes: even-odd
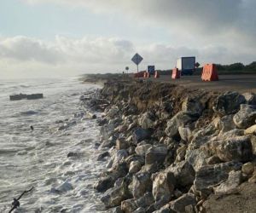
[[[113,212],[216,212],[212,196],[255,188],[256,95],[132,80],[101,94],[108,169],[95,188]]]

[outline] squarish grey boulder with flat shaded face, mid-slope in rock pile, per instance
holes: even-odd
[[[154,146],[148,149],[145,155],[145,164],[154,164],[155,162],[163,163],[167,154],[165,146]]]

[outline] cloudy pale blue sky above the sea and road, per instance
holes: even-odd
[[[256,60],[255,0],[0,0],[0,78]]]

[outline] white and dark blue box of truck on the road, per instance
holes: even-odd
[[[178,58],[176,67],[182,76],[192,75],[195,72],[195,56]]]

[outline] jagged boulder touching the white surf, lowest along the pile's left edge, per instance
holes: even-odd
[[[129,199],[130,194],[125,181],[119,187],[109,188],[102,195],[102,203],[105,204],[107,208],[112,208],[121,204],[121,202],[125,199]]]

